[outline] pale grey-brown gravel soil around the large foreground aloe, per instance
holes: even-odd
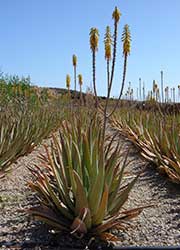
[[[117,141],[123,143],[124,148],[130,148],[129,158],[134,161],[128,170],[133,174],[142,171],[146,162],[138,151],[122,137],[117,136]],[[49,139],[45,143],[49,143]],[[37,203],[37,199],[27,185],[32,179],[27,166],[38,164],[39,153],[44,153],[41,145],[18,159],[12,171],[0,180],[0,249],[88,249],[88,243],[90,249],[107,247],[96,241],[90,244],[89,239],[54,234],[48,226],[28,216],[25,209]],[[150,164],[139,177],[126,207],[149,204],[154,206],[144,209],[126,231],[114,232],[119,237],[118,246],[180,248],[180,185],[170,182]]]

